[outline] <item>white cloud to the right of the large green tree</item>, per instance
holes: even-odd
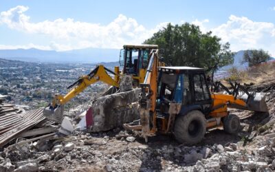
[[[257,22],[247,17],[231,15],[226,23],[211,29],[213,34],[228,41],[232,50],[259,49],[268,50],[275,55],[275,25],[268,22]]]

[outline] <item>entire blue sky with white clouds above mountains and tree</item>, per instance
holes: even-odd
[[[140,44],[167,23],[199,25],[232,51],[275,56],[275,1],[0,0],[0,49],[120,49]]]

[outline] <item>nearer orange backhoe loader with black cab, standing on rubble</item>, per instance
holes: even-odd
[[[173,133],[181,143],[196,144],[206,129],[239,131],[239,118],[228,107],[268,111],[264,94],[248,92],[239,84],[224,94],[210,93],[203,69],[158,67],[158,60],[153,53],[140,84],[140,120],[124,124],[125,129],[141,130],[146,142],[156,133]]]

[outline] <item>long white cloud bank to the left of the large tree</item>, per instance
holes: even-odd
[[[120,14],[107,25],[74,21],[74,19],[56,19],[32,23],[24,12],[28,7],[17,6],[1,12],[0,24],[12,30],[30,34],[50,36],[54,43],[49,43],[54,50],[72,50],[84,47],[121,48],[124,44],[140,44],[162,28],[160,23],[148,30],[135,19]]]

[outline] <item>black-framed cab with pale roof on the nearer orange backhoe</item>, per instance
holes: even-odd
[[[168,116],[170,103],[181,105],[179,114],[190,109],[210,111],[212,99],[203,69],[197,67],[159,67],[157,114]]]

